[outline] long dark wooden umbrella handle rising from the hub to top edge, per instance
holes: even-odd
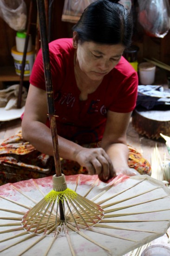
[[[55,170],[56,170],[56,176],[59,177],[61,176],[61,163],[59,158],[59,143],[58,143],[58,135],[57,135],[57,124],[56,124],[56,118],[55,118],[52,75],[51,75],[50,55],[49,55],[49,47],[48,47],[46,11],[45,11],[44,0],[37,0],[37,8],[38,8],[38,14],[39,14],[39,30],[40,30],[40,39],[41,39],[41,47],[42,47],[42,54],[43,54],[48,113],[49,113],[50,127],[52,132],[52,144],[53,144],[53,152],[54,152]]]

